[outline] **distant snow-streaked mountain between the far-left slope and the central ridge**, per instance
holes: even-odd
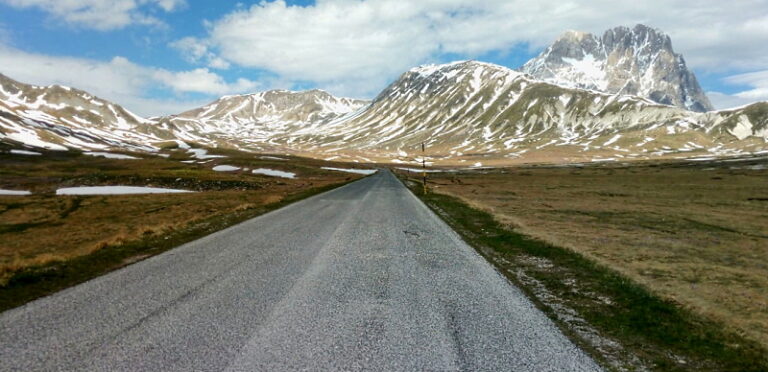
[[[287,138],[302,128],[322,125],[368,104],[314,89],[302,92],[270,90],[225,96],[179,115],[160,118],[177,137],[207,143],[222,141],[238,147],[266,149],[275,138]],[[266,147],[265,147],[266,146]]]

